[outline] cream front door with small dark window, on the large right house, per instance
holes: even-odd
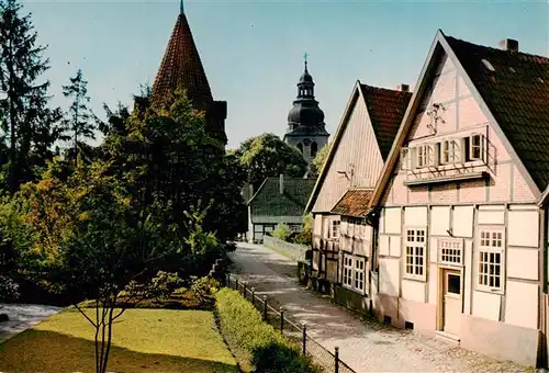
[[[461,320],[461,272],[442,270],[442,327],[444,331],[459,336]]]

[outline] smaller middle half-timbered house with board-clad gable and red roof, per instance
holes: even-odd
[[[314,216],[312,276],[321,285],[329,284],[333,287],[344,283],[343,253],[347,264],[352,262],[362,265],[360,263],[368,261],[371,231],[367,229],[368,233],[363,230],[365,233],[359,234],[361,229],[366,229],[363,219],[359,217],[355,222],[354,214],[347,214],[345,208],[340,208],[340,200],[346,193],[350,193],[355,202],[361,201],[365,192],[360,190],[374,187],[412,95],[407,90],[407,86],[390,90],[362,84],[360,81],[352,89],[306,208]],[[348,197],[343,202],[347,200]],[[346,216],[343,221],[340,214]],[[355,230],[356,226],[358,228]],[[351,230],[352,239],[349,240],[347,235]],[[361,240],[360,248],[357,246],[354,249],[358,239]],[[363,289],[351,287],[350,291],[355,289],[363,294],[367,291],[366,284],[365,278]],[[339,293],[344,287],[338,287]]]

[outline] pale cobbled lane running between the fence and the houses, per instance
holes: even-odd
[[[257,294],[267,294],[273,306],[283,305],[292,321],[306,321],[311,336],[328,350],[338,346],[341,360],[357,373],[534,372],[427,336],[360,319],[300,286],[295,262],[262,246],[238,244],[231,259],[234,271],[255,286]]]

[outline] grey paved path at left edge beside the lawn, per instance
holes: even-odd
[[[9,321],[0,323],[0,343],[61,309],[37,304],[0,304],[0,314],[8,314],[10,318]]]

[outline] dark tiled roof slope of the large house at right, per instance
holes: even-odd
[[[534,181],[545,190],[549,184],[549,58],[446,39]]]

